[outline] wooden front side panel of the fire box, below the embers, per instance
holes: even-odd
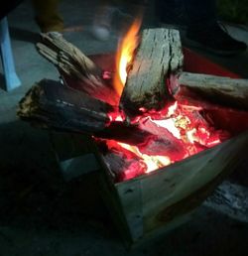
[[[130,187],[140,189],[142,203],[133,197],[133,204],[142,206],[144,237],[162,225],[185,216],[199,205],[223,179],[234,170],[245,155],[248,133],[243,133],[214,148],[203,151],[169,167],[131,181],[116,184],[126,214],[133,206],[125,197]],[[131,230],[132,219],[127,218]],[[132,232],[139,230],[134,226]],[[134,240],[135,241],[135,240]]]

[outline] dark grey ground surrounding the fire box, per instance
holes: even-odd
[[[62,2],[66,26],[82,27],[81,31],[65,33],[64,37],[85,54],[114,52],[116,34],[111,34],[106,42],[97,41],[89,34],[93,6],[92,1]],[[152,14],[149,12],[149,15]],[[155,241],[127,250],[101,200],[94,176],[65,182],[48,131],[32,127],[16,116],[18,101],[34,82],[59,76],[57,69],[35,49],[39,28],[29,2],[13,11],[8,20],[22,85],[10,92],[0,90],[1,256],[248,255],[248,206],[244,203],[246,197],[239,194],[247,194],[248,166],[245,162],[225,181],[242,188],[236,192],[237,197],[243,198],[242,210],[240,205],[236,208],[230,205],[234,210],[229,212],[218,207],[221,201],[206,201],[185,225]],[[153,19],[148,17],[148,25],[151,21]],[[247,42],[247,30],[228,29]],[[200,54],[243,77],[248,76],[248,53],[231,59]]]

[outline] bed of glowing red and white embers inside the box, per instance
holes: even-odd
[[[117,167],[111,167],[110,161],[110,169],[118,173],[116,181],[126,181],[169,166],[227,139],[229,134],[210,126],[200,114],[201,110],[175,102],[161,111],[160,119],[157,119],[158,113],[139,116],[137,127],[151,134],[144,142],[129,145],[103,140],[110,154],[121,159]]]

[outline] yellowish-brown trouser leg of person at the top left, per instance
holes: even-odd
[[[32,0],[36,22],[41,32],[62,32],[63,19],[59,13],[60,0]]]

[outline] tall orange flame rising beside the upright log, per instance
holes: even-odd
[[[116,73],[114,76],[114,87],[119,96],[121,96],[123,87],[127,79],[127,66],[131,64],[134,51],[138,45],[138,33],[141,27],[141,18],[135,19],[129,31],[118,46],[116,55]]]

